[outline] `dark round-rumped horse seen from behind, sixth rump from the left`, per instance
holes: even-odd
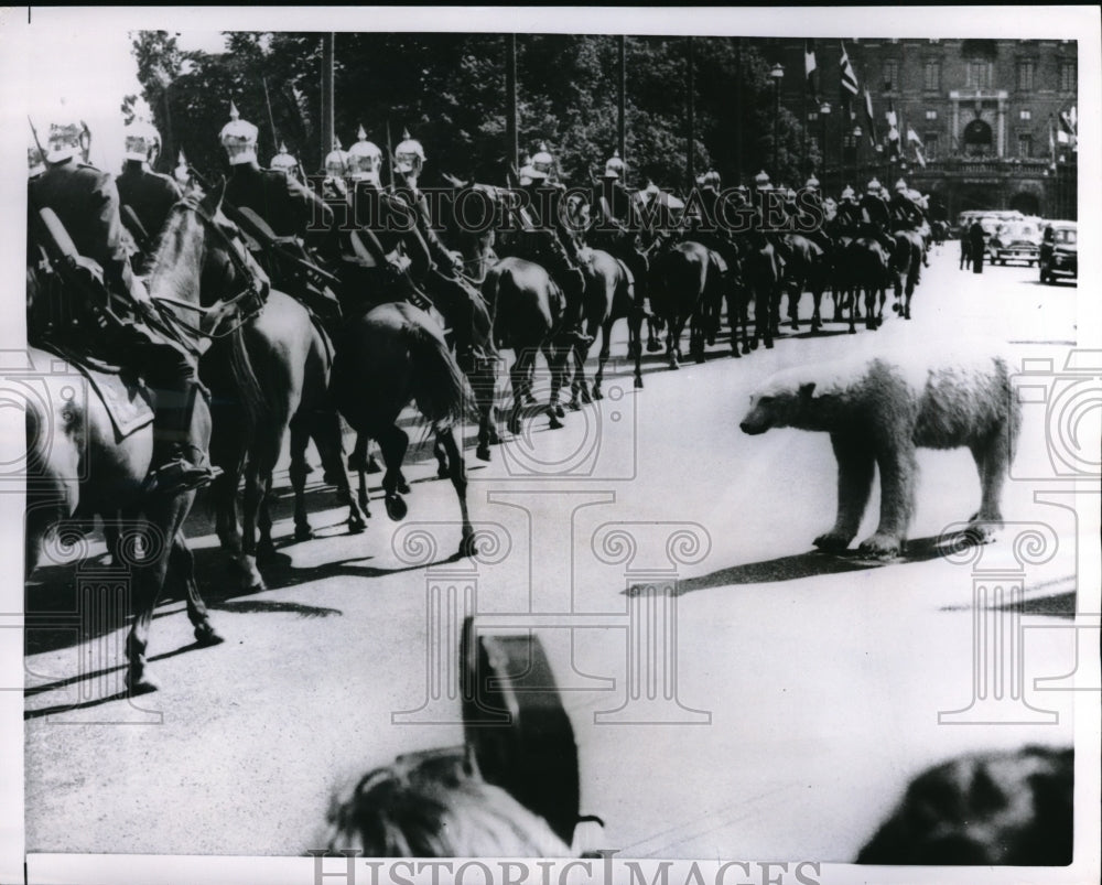
[[[702,305],[723,295],[721,267],[705,246],[683,240],[651,259],[650,306],[666,323],[666,355],[671,369],[680,368],[681,333],[689,324],[689,353],[704,361]]]

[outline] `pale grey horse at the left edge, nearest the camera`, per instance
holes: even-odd
[[[227,320],[236,336],[252,290],[226,268],[242,266],[235,241],[227,234],[229,222],[219,211],[222,194],[181,201],[173,208],[173,224],[161,236],[152,260],[149,293],[168,324],[186,326],[194,337],[212,337]],[[242,287],[238,294],[199,309],[198,325],[182,319],[183,311],[210,295]],[[33,296],[33,295],[32,295]],[[195,584],[192,553],[183,533],[195,492],[147,496],[142,484],[153,454],[153,430],[147,425],[118,439],[111,418],[97,396],[78,401],[66,396],[66,375],[75,367],[54,354],[29,348],[32,366],[41,367],[50,396],[29,397],[26,402],[28,510],[25,565],[30,576],[41,563],[52,530],[61,532],[65,546],[65,521],[96,515],[102,517],[112,554],[132,566],[133,623],[127,636],[126,687],[131,694],[154,691],[158,680],[150,670],[147,649],[153,609],[166,580],[184,583],[187,617],[199,646],[223,641]],[[198,397],[192,415],[194,439],[206,444],[212,438],[210,410]],[[121,520],[139,522],[143,529],[129,540],[117,528]],[[72,528],[72,527],[71,527]],[[72,533],[69,538],[72,539]],[[141,550],[140,554],[137,553]],[[129,551],[129,552],[128,552]]]

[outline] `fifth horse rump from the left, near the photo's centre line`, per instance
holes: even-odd
[[[628,321],[628,356],[635,360],[635,386],[642,387],[642,347],[640,346],[644,309],[635,294],[630,273],[622,261],[602,249],[583,247],[579,250],[582,276],[585,278],[585,295],[582,304],[586,334],[596,339],[601,331],[601,352],[597,356],[597,371],[593,378],[593,399],[603,399],[601,385],[605,376],[605,364],[612,352],[612,331],[617,320]],[[590,345],[592,346],[592,345]],[[585,359],[588,347],[583,352],[575,345],[574,379],[571,385],[571,408],[579,408],[577,401],[590,402],[590,390],[585,382]]]

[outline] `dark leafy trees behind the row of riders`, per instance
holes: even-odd
[[[163,133],[161,166],[176,151],[203,172],[223,172],[218,132],[233,100],[260,130],[261,164],[285,141],[307,171],[322,166],[322,35],[230,33],[222,54],[184,52],[176,35],[131,35],[138,76]],[[775,112],[765,63],[753,41],[694,37],[696,174],[714,166],[726,183],[759,169],[802,181],[803,133]],[[347,149],[363,125],[383,153],[408,129],[425,147],[426,182],[442,172],[504,184],[505,37],[496,34],[338,33],[335,129]],[[626,148],[629,181],[682,188],[688,154],[688,41],[628,37]],[[545,143],[562,176],[587,184],[617,144],[618,37],[530,34],[517,39],[518,137],[522,152]],[[130,102],[132,105],[132,101]],[[774,166],[774,140],[776,158]]]

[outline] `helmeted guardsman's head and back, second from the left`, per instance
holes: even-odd
[[[126,165],[115,180],[122,224],[133,236],[140,255],[148,258],[183,194],[172,179],[150,169],[161,153],[161,136],[148,120],[134,117],[122,140]]]

